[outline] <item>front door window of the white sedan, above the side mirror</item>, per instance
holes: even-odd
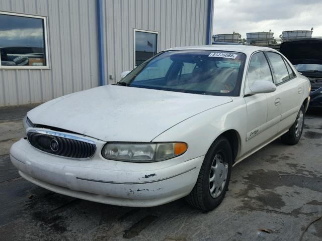
[[[247,80],[249,86],[255,80],[266,80],[273,82],[272,73],[263,52],[256,53],[252,56],[248,68]]]

